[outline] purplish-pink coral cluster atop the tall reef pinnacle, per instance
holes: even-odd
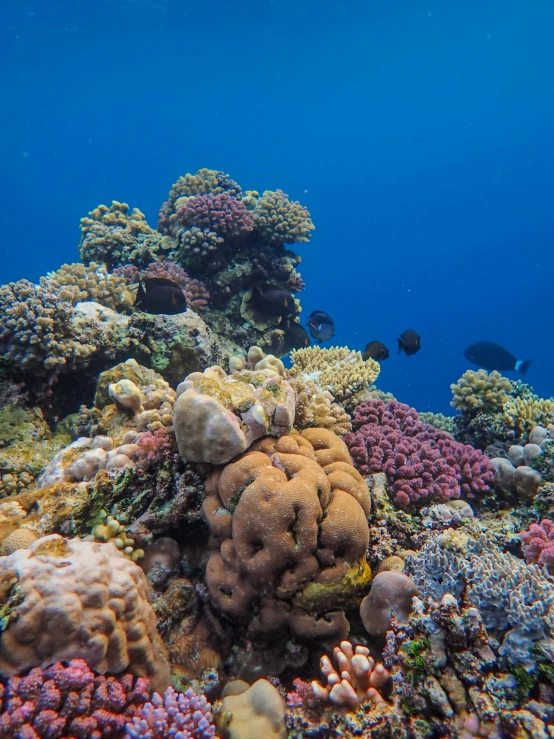
[[[227,238],[243,236],[254,228],[254,219],[245,205],[226,193],[189,198],[177,211],[177,219]]]

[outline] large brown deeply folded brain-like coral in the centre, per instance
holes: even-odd
[[[371,576],[369,510],[365,481],[331,431],[260,439],[206,483],[214,603],[252,634],[344,637],[342,609]]]

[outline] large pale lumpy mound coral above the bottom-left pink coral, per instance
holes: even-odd
[[[45,536],[0,557],[0,674],[86,659],[99,672],[169,683],[143,571],[113,544]]]

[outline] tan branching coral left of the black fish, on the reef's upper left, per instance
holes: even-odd
[[[55,272],[46,276],[54,288],[76,287],[78,302],[93,300],[112,310],[127,310],[133,306],[134,295],[127,289],[126,280],[116,274],[109,274],[103,264],[90,262],[84,264],[62,264]]]

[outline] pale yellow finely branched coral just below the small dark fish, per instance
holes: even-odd
[[[377,378],[380,367],[373,359],[364,361],[360,352],[348,347],[322,349],[311,346],[291,352],[291,377],[304,382],[313,380],[321,390],[328,390],[341,405],[355,402],[357,393],[367,390]]]

